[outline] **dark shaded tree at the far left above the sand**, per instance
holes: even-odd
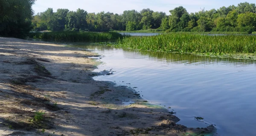
[[[0,36],[25,38],[32,29],[35,0],[0,0]]]

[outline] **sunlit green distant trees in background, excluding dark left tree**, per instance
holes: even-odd
[[[256,6],[253,3],[239,3],[238,6],[221,7],[188,13],[182,6],[170,10],[171,15],[151,9],[124,11],[123,14],[110,12],[87,13],[83,9],[69,11],[58,9],[34,16],[35,31],[136,31],[159,29],[163,31],[256,31]]]

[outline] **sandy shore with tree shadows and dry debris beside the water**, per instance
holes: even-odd
[[[0,135],[189,136],[215,130],[177,125],[166,108],[148,105],[130,88],[93,80],[101,74],[92,72],[93,56],[60,44],[0,37]],[[134,104],[122,104],[127,101]]]

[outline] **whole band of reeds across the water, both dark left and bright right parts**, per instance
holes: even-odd
[[[256,59],[256,35],[176,32],[156,36],[131,37],[115,32],[30,33],[31,38],[64,42],[102,42],[108,45],[145,51],[190,53],[207,56]]]

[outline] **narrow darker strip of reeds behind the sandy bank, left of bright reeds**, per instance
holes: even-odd
[[[33,32],[29,34],[30,38],[49,40],[49,41],[65,41],[65,42],[95,42],[103,40],[122,39],[122,34],[115,32]]]

